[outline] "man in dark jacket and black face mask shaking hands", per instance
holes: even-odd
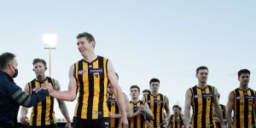
[[[22,91],[14,82],[18,75],[17,65],[14,54],[6,52],[0,55],[0,128],[17,125],[20,105],[30,108],[48,96],[48,90],[38,90],[34,95]]]

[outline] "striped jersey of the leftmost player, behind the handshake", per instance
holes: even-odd
[[[55,89],[55,79],[46,78],[44,81],[40,82],[33,79],[28,83],[29,94],[35,94],[41,88],[41,84],[50,83]],[[31,126],[44,126],[56,124],[55,111],[54,111],[54,97],[46,96],[43,102],[39,102],[37,106],[32,108],[31,117],[29,120],[29,125]]]

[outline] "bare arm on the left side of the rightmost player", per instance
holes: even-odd
[[[230,92],[230,95],[229,95],[229,100],[228,100],[228,103],[227,103],[227,123],[228,123],[228,127],[229,128],[232,128],[232,119],[231,119],[231,113],[232,113],[232,109],[234,107],[234,100],[235,100],[235,96],[234,96],[234,93],[233,91]]]

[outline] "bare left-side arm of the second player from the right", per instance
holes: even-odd
[[[186,91],[186,96],[185,96],[184,125],[186,127],[189,127],[191,97],[192,97],[192,93],[189,89]]]

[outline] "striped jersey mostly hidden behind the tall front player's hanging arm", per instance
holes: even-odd
[[[110,93],[108,93],[108,111],[111,113],[119,113],[119,106],[116,102],[115,96]],[[119,127],[119,119],[109,119],[109,127]]]

